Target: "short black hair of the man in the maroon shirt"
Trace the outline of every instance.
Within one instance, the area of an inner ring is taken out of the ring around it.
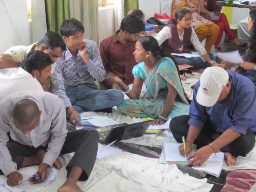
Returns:
[[[144,31],[145,24],[136,15],[129,14],[123,18],[120,29],[126,30],[129,34],[135,34]]]

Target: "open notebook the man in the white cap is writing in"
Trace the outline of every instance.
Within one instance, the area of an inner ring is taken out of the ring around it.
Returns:
[[[180,143],[164,143],[162,154],[159,158],[159,162],[163,164],[188,165],[189,161],[184,156],[182,156],[178,150],[178,147],[180,145],[181,145]],[[200,167],[195,166],[192,168],[196,170],[200,170],[202,172],[206,172],[213,176],[219,177],[222,170],[223,163],[224,163],[224,153],[218,152],[216,153],[216,156],[212,154],[210,158],[206,162],[204,162],[202,166]]]

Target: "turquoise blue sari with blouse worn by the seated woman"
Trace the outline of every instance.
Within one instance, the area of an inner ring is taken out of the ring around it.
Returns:
[[[144,62],[134,66],[134,76],[146,83],[146,94],[140,99],[126,99],[117,106],[122,113],[136,118],[158,118],[164,109],[168,94],[167,83],[177,91],[179,98],[172,104],[168,118],[188,114],[189,104],[184,96],[178,70],[171,58],[164,57],[146,74]]]

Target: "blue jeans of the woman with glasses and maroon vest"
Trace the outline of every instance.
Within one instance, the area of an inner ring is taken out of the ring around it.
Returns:
[[[192,58],[184,58],[184,57],[176,57],[175,58],[178,65],[188,64],[193,66],[193,69],[205,69],[209,67],[207,62],[204,62],[200,57],[192,57]]]

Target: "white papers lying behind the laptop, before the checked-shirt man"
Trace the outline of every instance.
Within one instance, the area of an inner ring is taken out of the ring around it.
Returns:
[[[108,125],[115,125],[118,122],[113,121],[108,117],[102,116],[93,116],[90,118],[81,118],[82,126],[76,126],[76,130],[82,128],[97,128],[97,127],[104,127]]]

